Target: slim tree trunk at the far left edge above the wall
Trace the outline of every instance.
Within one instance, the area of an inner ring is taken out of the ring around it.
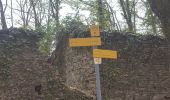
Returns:
[[[2,29],[7,29],[5,14],[4,14],[4,10],[3,10],[3,4],[2,4],[1,0],[0,0],[0,12],[1,12]]]

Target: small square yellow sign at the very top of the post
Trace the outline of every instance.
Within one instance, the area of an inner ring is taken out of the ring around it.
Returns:
[[[91,33],[91,36],[100,36],[99,25],[91,25],[90,33]]]

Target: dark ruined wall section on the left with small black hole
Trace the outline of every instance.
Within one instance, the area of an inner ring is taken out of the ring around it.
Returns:
[[[40,36],[24,29],[0,30],[0,100],[93,100],[63,83],[49,56],[38,49]]]

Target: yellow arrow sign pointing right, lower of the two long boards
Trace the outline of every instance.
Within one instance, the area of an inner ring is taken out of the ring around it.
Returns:
[[[117,59],[117,51],[93,49],[93,57]]]

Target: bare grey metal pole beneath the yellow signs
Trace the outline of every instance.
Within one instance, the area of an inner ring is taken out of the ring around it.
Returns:
[[[96,72],[96,94],[97,94],[97,100],[102,100],[101,86],[100,86],[99,64],[95,64],[95,72]]]

